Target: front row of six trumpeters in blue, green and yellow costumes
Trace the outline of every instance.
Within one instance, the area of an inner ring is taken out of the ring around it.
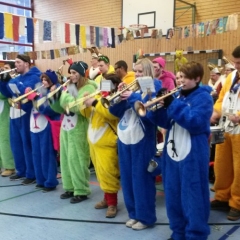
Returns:
[[[99,62],[103,59],[101,56]],[[106,217],[115,217],[121,182],[129,214],[126,226],[134,230],[151,227],[157,220],[155,173],[147,169],[156,152],[156,129],[160,126],[167,130],[159,166],[173,231],[171,239],[207,239],[210,233],[207,224],[210,212],[208,138],[213,102],[210,88],[199,87],[203,77],[201,64],[190,62],[183,65],[179,74],[182,88],[178,97],[166,97],[158,103],[161,107],[156,111],[147,111],[146,116],[139,116],[134,104],[136,101],[151,101],[148,94],[141,89],[127,89],[120,94],[120,101],[108,110],[101,104],[98,84],[85,77],[88,66],[82,61],[71,64],[67,88],[58,88],[52,71],[41,74],[35,67],[21,71],[26,63],[29,63],[28,58],[19,55],[16,67],[22,75],[0,85],[6,97],[30,93],[27,103],[13,107],[17,113],[10,110],[11,148],[17,170],[12,180],[25,177],[23,184],[30,184],[36,179],[36,187],[43,188],[45,192],[56,188],[56,159],[50,129],[51,121],[60,121],[62,116],[60,164],[65,192],[60,198],[71,198],[71,203],[88,198],[91,192],[88,169],[91,157],[104,193],[103,200],[95,208],[107,208]],[[155,91],[152,98],[161,92],[161,81],[154,78],[153,63],[149,59],[139,59],[134,71],[135,78],[153,78]],[[104,75],[104,78],[112,81],[117,91],[122,89],[121,79],[116,74]],[[45,91],[32,95],[31,90],[39,82]],[[39,99],[57,89],[59,91],[52,95],[50,101],[46,98],[38,106]],[[66,111],[70,103],[78,100],[82,100],[81,104]],[[28,135],[30,138],[26,139]],[[24,153],[16,156],[20,148]],[[22,158],[24,166],[20,164]]]

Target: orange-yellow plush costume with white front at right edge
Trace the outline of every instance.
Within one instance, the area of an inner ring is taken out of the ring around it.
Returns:
[[[225,84],[214,105],[220,115],[228,112],[235,99],[233,114],[240,115],[239,91],[230,93],[230,88],[237,71],[228,75]],[[237,84],[236,84],[237,85]],[[227,118],[227,117],[226,117]],[[228,120],[225,121],[227,123]],[[229,206],[240,210],[240,125],[230,122],[225,124],[225,141],[216,145],[214,172],[216,176],[214,189],[215,199],[229,202]]]

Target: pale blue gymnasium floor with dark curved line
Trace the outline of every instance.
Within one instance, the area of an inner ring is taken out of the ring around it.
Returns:
[[[103,197],[95,174],[91,175],[92,194],[77,204],[59,198],[63,192],[61,179],[57,190],[49,193],[36,190],[35,185],[20,183],[0,177],[1,240],[166,240],[170,237],[162,185],[157,185],[155,227],[134,231],[125,227],[128,216],[121,191],[116,218],[105,218],[106,209],[94,209],[94,204]],[[240,239],[240,220],[228,221],[224,212],[211,211],[209,225],[210,240]]]

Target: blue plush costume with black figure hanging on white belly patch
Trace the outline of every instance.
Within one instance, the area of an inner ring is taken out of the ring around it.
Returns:
[[[173,100],[168,108],[148,112],[167,129],[162,176],[172,239],[207,239],[209,217],[209,144],[211,89],[195,87]]]

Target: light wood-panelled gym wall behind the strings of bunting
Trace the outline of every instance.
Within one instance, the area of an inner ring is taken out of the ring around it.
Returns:
[[[211,20],[213,18],[222,17],[233,12],[237,12],[240,9],[240,1],[229,0],[235,6],[235,11],[232,11],[226,5],[223,5],[222,0],[209,1],[209,0],[198,0],[197,3],[197,22],[202,20]],[[65,2],[65,3],[63,3]],[[102,2],[102,3],[101,3]],[[193,2],[193,1],[189,1]],[[204,4],[203,4],[204,3]],[[177,2],[177,6],[181,4]],[[215,4],[215,10],[213,14],[212,6]],[[208,6],[208,8],[206,7]],[[221,6],[222,8],[220,8]],[[202,8],[201,8],[202,7]],[[101,10],[100,10],[101,9]],[[240,12],[240,11],[239,11]],[[203,17],[201,17],[201,14]],[[35,17],[46,20],[55,20],[60,22],[72,22],[72,23],[85,23],[87,25],[94,26],[121,26],[121,0],[96,0],[79,1],[72,0],[66,3],[66,1],[58,0],[35,0]],[[184,16],[185,18],[185,16]],[[184,26],[185,24],[191,24],[188,19],[185,22],[180,22],[180,18],[177,20],[179,24]],[[184,24],[183,24],[184,23]],[[179,25],[180,26],[180,25]],[[203,38],[187,38],[179,39],[177,34],[171,40],[165,38],[160,39],[138,39],[132,41],[125,41],[118,45],[115,49],[113,48],[102,48],[100,51],[103,54],[109,56],[111,63],[114,64],[118,60],[125,60],[129,69],[132,68],[133,54],[138,49],[143,49],[145,53],[155,52],[173,52],[175,49],[186,50],[187,47],[191,46],[193,50],[206,50],[206,49],[223,49],[224,55],[227,58],[231,57],[231,51],[233,47],[237,46],[240,42],[240,28],[237,31],[226,32],[223,34],[212,35]],[[60,43],[45,43],[35,44],[35,50],[49,50],[58,49],[67,45],[61,45]],[[77,55],[70,56],[73,60],[83,60],[90,63],[91,55],[89,52],[80,53]],[[186,56],[189,60],[195,60],[201,62],[205,67],[204,83],[209,78],[209,71],[206,67],[208,59],[217,58],[216,54],[201,54],[201,55],[189,55]],[[62,65],[62,60],[65,58],[59,58],[55,60],[37,60],[36,65],[42,70],[53,69],[57,70]],[[67,63],[66,63],[67,65]],[[167,63],[167,69],[173,71],[173,63]],[[63,67],[64,74],[67,74],[68,66]]]

